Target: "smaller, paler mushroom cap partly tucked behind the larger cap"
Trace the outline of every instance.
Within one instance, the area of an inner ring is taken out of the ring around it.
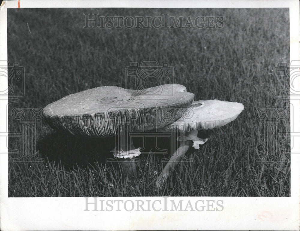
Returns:
[[[235,102],[220,100],[194,101],[180,119],[163,127],[162,130],[179,129],[184,132],[191,132],[193,130],[221,127],[235,120],[243,109],[244,105]]]

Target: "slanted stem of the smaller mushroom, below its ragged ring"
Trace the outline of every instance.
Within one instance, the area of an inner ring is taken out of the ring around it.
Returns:
[[[160,189],[164,182],[167,180],[167,177],[170,174],[170,171],[174,169],[174,166],[178,164],[179,160],[184,156],[184,154],[187,152],[187,150],[193,145],[193,141],[187,140],[185,142],[182,142],[180,147],[173,153],[170,160],[164,167],[163,171],[159,175],[158,179],[156,180],[156,187]]]

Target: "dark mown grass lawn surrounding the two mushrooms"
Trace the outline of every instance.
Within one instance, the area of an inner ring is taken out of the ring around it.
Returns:
[[[221,29],[83,29],[84,12],[103,16],[223,16]],[[20,131],[11,117],[17,106],[44,108],[70,93],[115,85],[125,87],[129,62],[157,59],[174,67],[174,82],[195,100],[240,102],[233,122],[208,131],[210,140],[189,150],[161,191],[155,179],[162,156],[153,141],[139,157],[138,179],[122,182],[119,168],[106,164],[114,138],[88,139],[59,134],[44,120],[36,123],[37,155],[45,163],[13,163],[9,155],[9,196],[290,196],[290,138],[278,137],[268,151],[259,107],[284,107],[274,96],[274,67],[289,63],[289,10],[270,9],[8,9],[8,61],[25,68],[25,96],[9,104],[9,131]],[[277,79],[277,81],[282,80]],[[155,81],[153,82],[155,84]],[[281,85],[280,85],[281,86]],[[134,87],[134,86],[132,86]],[[279,89],[285,93],[283,87]],[[270,115],[271,116],[271,115]],[[289,132],[290,120],[278,120]],[[205,136],[204,135],[204,136]],[[138,146],[139,139],[134,139]],[[9,139],[9,148],[20,141]],[[163,148],[166,142],[158,144]]]

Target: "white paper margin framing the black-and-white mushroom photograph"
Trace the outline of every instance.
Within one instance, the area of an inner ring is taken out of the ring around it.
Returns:
[[[290,60],[300,60],[298,1],[20,1],[21,8],[86,8],[87,6],[89,8],[289,8]],[[7,60],[7,8],[18,8],[18,1],[6,2],[0,9],[0,60]],[[1,84],[7,86],[7,81],[3,82],[0,79],[0,86],[3,86]],[[291,97],[291,104],[294,109],[291,109],[291,113],[295,118],[291,125],[291,132],[296,134],[293,139],[291,138],[291,197],[201,197],[202,200],[223,200],[222,212],[88,212],[83,211],[85,198],[80,197],[8,198],[8,155],[1,154],[1,230],[299,230],[300,137],[297,136],[300,132],[299,99],[294,100]],[[6,105],[7,100],[0,100],[0,126],[7,131],[7,114],[3,113],[6,111]],[[8,152],[6,142],[6,137],[0,137],[0,152],[3,152],[3,148]],[[172,197],[175,201],[187,198],[197,200],[197,197]],[[102,199],[109,199],[109,197]],[[271,212],[272,215],[265,220],[259,219],[259,215],[264,212]]]

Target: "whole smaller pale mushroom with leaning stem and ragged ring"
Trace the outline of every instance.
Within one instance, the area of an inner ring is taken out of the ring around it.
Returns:
[[[183,116],[176,122],[167,125],[160,131],[179,131],[185,132],[183,137],[178,137],[182,141],[181,146],[173,153],[169,162],[156,180],[156,186],[161,186],[166,181],[170,170],[184,156],[187,150],[192,146],[199,149],[199,145],[204,144],[208,138],[198,138],[199,130],[208,130],[215,127],[221,127],[233,120],[243,111],[244,105],[235,102],[226,102],[219,100],[199,100],[194,101],[189,108],[188,117]]]

